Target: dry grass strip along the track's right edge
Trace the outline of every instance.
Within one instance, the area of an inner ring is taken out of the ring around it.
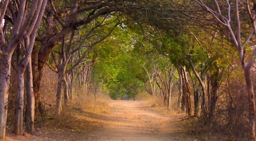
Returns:
[[[222,130],[222,132],[220,132],[210,129],[208,126],[205,126],[198,117],[187,116],[186,113],[182,112],[181,108],[177,106],[177,95],[174,95],[170,109],[166,107],[166,104],[164,104],[163,98],[160,95],[156,95],[154,97],[145,96],[145,94],[140,95],[140,97],[144,97],[144,99],[141,100],[147,101],[145,106],[150,110],[180,119],[179,122],[173,123],[173,126],[175,126],[174,128],[181,128],[183,130],[184,137],[198,139],[198,141],[236,141],[234,136],[227,136],[227,130],[224,131],[219,128],[219,130]],[[243,141],[243,139],[239,140]]]

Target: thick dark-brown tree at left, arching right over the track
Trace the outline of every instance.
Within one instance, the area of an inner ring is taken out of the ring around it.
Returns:
[[[39,106],[40,81],[43,68],[54,46],[79,26],[90,24],[102,15],[115,13],[119,9],[117,6],[121,4],[122,2],[115,3],[114,1],[106,2],[104,0],[86,2],[75,0],[63,3],[49,1],[49,7],[46,10],[47,17],[45,18],[46,26],[45,29],[41,29],[41,31],[44,31],[42,36],[38,37],[41,42],[40,49],[38,52],[34,52],[37,55],[33,55],[36,58],[32,59],[32,61],[35,61],[32,62],[34,64],[32,67],[35,105],[37,108]],[[62,9],[62,7],[67,8]],[[55,30],[55,25],[61,25],[61,30]],[[42,27],[44,28],[44,26]]]

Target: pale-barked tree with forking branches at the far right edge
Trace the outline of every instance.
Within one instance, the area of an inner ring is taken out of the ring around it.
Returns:
[[[209,13],[211,13],[211,15],[213,15],[213,17],[220,24],[227,28],[229,37],[231,38],[232,43],[238,51],[240,62],[244,71],[248,93],[249,140],[255,141],[255,100],[251,78],[251,68],[254,63],[256,49],[254,48],[255,44],[251,41],[254,40],[252,35],[256,35],[256,23],[254,16],[254,12],[256,11],[256,1],[252,0],[252,2],[249,2],[249,0],[247,0],[238,2],[238,0],[236,0],[235,2],[225,1],[221,3],[215,0],[214,4],[211,4],[211,7],[209,6],[209,3],[202,0],[196,0],[196,2],[198,2]],[[245,13],[243,13],[244,10],[240,9],[245,9],[245,11],[247,11],[247,17],[241,17],[241,15],[244,15]],[[243,18],[244,21],[250,21],[251,23],[249,24],[249,22],[242,22],[240,18]],[[247,26],[247,28],[244,29],[243,26]],[[246,56],[246,47],[253,50],[253,53],[249,56],[249,58]]]

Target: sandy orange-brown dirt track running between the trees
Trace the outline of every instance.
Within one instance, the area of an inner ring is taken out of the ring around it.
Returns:
[[[89,140],[187,140],[182,137],[181,130],[175,126],[175,122],[179,121],[177,117],[150,111],[144,103],[145,101],[108,101],[112,112],[105,117],[106,123],[103,127],[89,134],[92,137]]]

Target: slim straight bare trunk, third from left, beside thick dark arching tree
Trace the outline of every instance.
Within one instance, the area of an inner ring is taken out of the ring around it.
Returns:
[[[34,134],[34,119],[35,119],[35,97],[33,92],[33,76],[32,76],[32,66],[31,57],[27,64],[27,106],[26,106],[26,132],[29,134]]]

